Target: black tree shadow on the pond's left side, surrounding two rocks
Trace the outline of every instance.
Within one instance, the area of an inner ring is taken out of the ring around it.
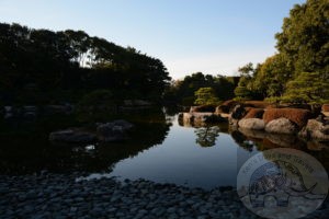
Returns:
[[[23,174],[48,170],[53,172],[101,172],[122,159],[134,157],[160,145],[171,124],[159,108],[122,115],[104,116],[97,122],[124,118],[135,124],[129,139],[115,143],[63,145],[48,141],[49,132],[69,127],[88,127],[92,116],[52,116],[35,120],[0,122],[0,174]]]

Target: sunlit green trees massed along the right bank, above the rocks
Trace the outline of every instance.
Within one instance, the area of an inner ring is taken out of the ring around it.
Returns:
[[[265,99],[272,103],[328,101],[329,4],[307,0],[296,4],[275,35],[277,54],[253,68],[239,68],[238,99]]]

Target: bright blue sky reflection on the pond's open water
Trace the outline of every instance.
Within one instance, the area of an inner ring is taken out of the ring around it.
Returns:
[[[183,127],[177,117],[172,120],[161,145],[117,162],[110,175],[205,188],[235,185],[237,155],[243,149],[231,136],[218,126]]]

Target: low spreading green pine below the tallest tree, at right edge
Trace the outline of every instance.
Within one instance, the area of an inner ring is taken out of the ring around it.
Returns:
[[[319,72],[302,72],[286,84],[283,100],[296,103],[321,103],[329,100],[329,80]]]

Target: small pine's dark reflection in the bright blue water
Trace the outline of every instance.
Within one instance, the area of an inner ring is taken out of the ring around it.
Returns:
[[[196,135],[195,142],[201,147],[213,147],[216,143],[216,138],[219,136],[218,126],[201,127],[194,130]]]

